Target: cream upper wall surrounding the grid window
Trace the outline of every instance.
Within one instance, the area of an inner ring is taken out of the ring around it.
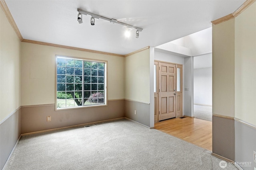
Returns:
[[[124,99],[124,57],[22,43],[22,106],[55,103],[55,55],[108,61],[108,100]]]

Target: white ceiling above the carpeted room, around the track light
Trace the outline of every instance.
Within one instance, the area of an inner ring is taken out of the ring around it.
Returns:
[[[211,27],[211,21],[237,10],[245,0],[6,0],[24,39],[125,55]],[[132,29],[83,16],[77,9],[143,28]]]

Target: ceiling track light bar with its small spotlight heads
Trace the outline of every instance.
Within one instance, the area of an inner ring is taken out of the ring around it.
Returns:
[[[115,19],[110,19],[110,18],[106,18],[106,17],[103,17],[103,16],[99,16],[99,15],[96,15],[96,14],[93,14],[93,13],[90,13],[90,12],[87,12],[87,11],[83,11],[83,10],[79,10],[79,9],[77,9],[77,11],[79,12],[78,13],[78,18],[77,18],[77,20],[78,20],[78,22],[79,23],[83,23],[83,21],[82,21],[82,14],[84,14],[84,15],[90,15],[90,16],[92,16],[91,17],[91,25],[95,25],[95,18],[96,19],[99,19],[99,18],[101,18],[101,19],[103,19],[103,20],[107,20],[107,21],[110,21],[110,23],[119,23],[119,24],[121,24],[121,25],[125,25],[127,28],[129,28],[129,29],[132,29],[132,28],[135,28],[135,29],[137,29],[136,30],[136,38],[138,38],[139,37],[139,32],[141,32],[143,29],[142,28],[139,28],[139,27],[135,27],[135,26],[133,26],[133,25],[129,25],[129,24],[126,24],[126,23],[123,23],[123,22],[119,22],[119,21],[117,21],[117,20],[115,20]],[[81,17],[80,17],[81,16]]]

